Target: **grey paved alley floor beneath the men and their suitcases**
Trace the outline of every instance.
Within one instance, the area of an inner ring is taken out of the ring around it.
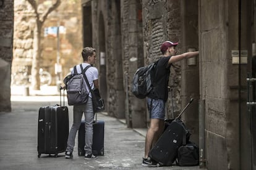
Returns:
[[[104,156],[98,156],[96,160],[84,160],[83,156],[78,156],[76,138],[72,160],[65,159],[64,153],[59,153],[58,158],[44,154],[38,158],[38,110],[42,106],[59,104],[58,91],[48,89],[36,96],[22,96],[19,92],[20,89],[16,89],[16,95],[11,97],[12,112],[0,113],[0,169],[148,169],[141,165],[145,129],[140,129],[140,133],[138,129],[129,129],[122,120],[106,113],[98,114],[98,119],[105,121]],[[72,112],[72,107],[69,107],[69,127],[72,124]],[[199,168],[171,166],[158,169]]]

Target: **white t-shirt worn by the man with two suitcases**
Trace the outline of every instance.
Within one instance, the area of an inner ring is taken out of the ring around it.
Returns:
[[[88,65],[90,65],[89,63],[82,63],[82,67],[83,69],[85,67],[87,67]],[[76,65],[77,68],[77,73],[82,73],[82,70],[80,68],[80,64]],[[71,71],[71,73],[74,73],[74,70]],[[94,83],[93,81],[95,79],[98,79],[98,69],[96,67],[90,67],[87,69],[87,71],[85,72],[85,75],[87,76],[88,82],[91,86],[92,89],[94,89]],[[87,87],[87,86],[86,86]],[[87,91],[90,92],[90,89],[87,87]],[[89,97],[92,97],[92,94],[89,93]]]

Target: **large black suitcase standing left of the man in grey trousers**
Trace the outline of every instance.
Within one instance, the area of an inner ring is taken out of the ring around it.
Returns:
[[[64,102],[64,100],[63,100]],[[69,110],[59,105],[41,107],[38,115],[38,158],[65,152],[69,136]]]

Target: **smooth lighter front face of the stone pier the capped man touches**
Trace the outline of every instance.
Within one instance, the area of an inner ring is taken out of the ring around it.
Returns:
[[[200,95],[202,99],[205,99],[205,132],[207,136],[205,149],[208,168],[229,169],[228,160],[230,158],[228,158],[226,144],[228,96],[224,92],[228,88],[226,68],[229,63],[227,58],[228,34],[225,31],[226,25],[224,25],[227,9],[219,4],[220,1],[211,1],[211,3],[201,1],[200,3],[201,6],[204,6],[200,14],[202,17],[200,20],[200,31],[202,32],[200,36],[200,56],[202,56],[200,71],[203,73],[200,75],[200,79],[204,80]],[[236,28],[234,30],[237,30]],[[216,43],[218,41],[222,43]],[[236,144],[237,142],[233,143],[233,145]],[[215,163],[211,160],[215,160]]]

